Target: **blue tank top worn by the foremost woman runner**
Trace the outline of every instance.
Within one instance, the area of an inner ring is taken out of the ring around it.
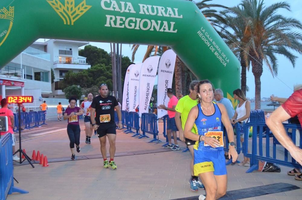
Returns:
[[[197,130],[196,134],[204,135],[208,131],[223,131],[221,128],[221,111],[215,102],[213,102],[213,104],[214,104],[215,111],[214,114],[210,116],[204,115],[201,110],[200,104],[197,105],[198,116],[194,124],[195,130]],[[220,140],[223,140],[223,138],[221,138]],[[204,146],[204,141],[200,141],[199,144],[197,141],[196,144],[194,145],[194,149],[202,150],[202,151],[221,151],[223,150],[223,147],[213,148],[211,146]]]

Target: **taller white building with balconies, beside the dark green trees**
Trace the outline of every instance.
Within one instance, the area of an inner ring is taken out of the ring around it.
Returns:
[[[50,53],[50,61],[53,63],[52,68],[55,75],[55,82],[52,84],[52,93],[49,97],[65,98],[62,92],[62,80],[65,74],[72,70],[79,72],[83,69],[90,68],[90,64],[86,63],[86,58],[79,56],[79,47],[82,47],[89,42],[72,41],[72,40],[48,40],[47,53]]]

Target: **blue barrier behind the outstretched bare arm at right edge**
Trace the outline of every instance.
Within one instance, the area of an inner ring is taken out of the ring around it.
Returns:
[[[283,124],[287,134],[294,143],[296,143],[296,130],[299,130],[302,133],[302,127],[299,124]],[[252,134],[252,153],[248,152],[248,135],[249,135],[249,127],[253,127]],[[276,145],[280,144],[278,140],[273,138],[273,157],[270,156],[270,137],[268,134],[265,137],[262,134],[259,134],[259,138],[257,137],[257,129],[259,130],[265,129],[268,133],[270,130],[265,122],[250,122],[244,125],[244,148],[243,153],[244,156],[250,158],[251,167],[246,171],[246,173],[250,173],[259,168],[259,160],[263,160],[270,163],[276,163],[283,166],[294,167],[294,168],[302,168],[299,163],[297,163],[293,158],[291,161],[288,161],[288,151],[284,149],[284,156],[282,159],[276,158]],[[292,133],[289,132],[288,129],[292,129]],[[265,156],[263,155],[263,139],[265,139]],[[299,146],[302,148],[302,134],[300,134]]]

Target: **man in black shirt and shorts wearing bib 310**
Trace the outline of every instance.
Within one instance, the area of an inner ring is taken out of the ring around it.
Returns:
[[[115,154],[115,139],[116,139],[116,124],[114,122],[114,108],[117,111],[118,116],[118,129],[123,127],[122,125],[122,113],[118,106],[117,100],[114,96],[108,95],[108,86],[106,83],[100,85],[99,92],[101,95],[95,97],[92,100],[90,118],[92,121],[92,127],[97,131],[101,144],[101,153],[104,159],[104,168],[116,169],[117,166],[114,162]],[[96,115],[95,115],[96,113]],[[95,122],[94,122],[95,121]],[[108,136],[110,148],[110,161],[107,160],[106,151],[106,137]]]

